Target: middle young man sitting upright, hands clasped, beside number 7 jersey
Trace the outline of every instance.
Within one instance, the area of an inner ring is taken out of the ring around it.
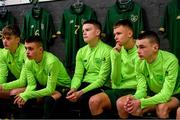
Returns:
[[[86,46],[76,55],[75,74],[67,99],[80,103],[80,117],[90,118],[89,98],[102,92],[103,86],[110,85],[110,51],[111,47],[100,39],[101,24],[96,20],[83,23],[83,38]]]

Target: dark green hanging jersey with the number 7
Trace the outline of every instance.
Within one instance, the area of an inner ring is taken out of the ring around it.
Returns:
[[[59,32],[65,40],[65,66],[74,69],[76,53],[85,45],[82,36],[82,24],[86,20],[97,19],[95,11],[87,5],[83,5],[81,12],[70,6],[62,15]]]

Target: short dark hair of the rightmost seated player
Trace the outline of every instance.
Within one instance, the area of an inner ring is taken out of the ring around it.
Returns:
[[[140,33],[137,39],[138,40],[142,40],[142,39],[146,39],[146,38],[148,40],[150,40],[151,43],[156,43],[160,47],[160,39],[159,39],[159,37],[158,37],[156,32],[145,31],[143,33]]]

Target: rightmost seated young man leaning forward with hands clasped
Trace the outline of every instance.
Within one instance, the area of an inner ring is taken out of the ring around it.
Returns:
[[[176,95],[178,60],[172,53],[159,49],[157,34],[146,31],[137,39],[138,61],[136,78],[137,91],[121,99],[121,117],[128,113],[143,116],[148,110],[155,110],[159,118],[169,118],[169,112],[179,105]]]

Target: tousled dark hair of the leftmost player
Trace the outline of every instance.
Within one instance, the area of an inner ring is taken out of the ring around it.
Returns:
[[[16,25],[7,25],[2,29],[2,35],[15,35],[17,37],[20,37],[20,29]]]

